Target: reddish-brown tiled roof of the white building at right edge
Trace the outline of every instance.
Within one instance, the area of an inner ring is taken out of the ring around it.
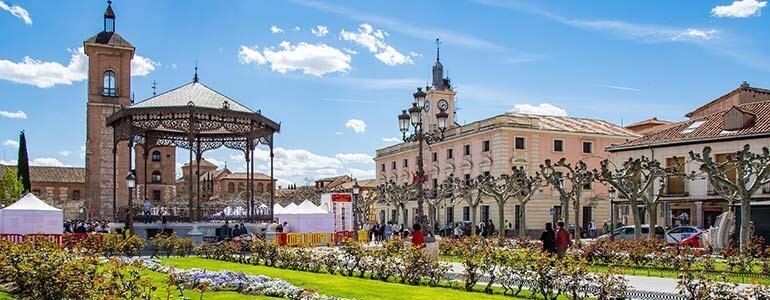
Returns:
[[[607,151],[622,151],[638,148],[700,143],[721,139],[750,138],[756,136],[770,136],[770,101],[753,102],[738,105],[737,108],[745,113],[756,116],[754,123],[746,128],[725,131],[724,115],[729,109],[715,112],[701,118],[663,125],[659,131],[645,135],[623,144],[611,146]],[[690,125],[703,122],[694,130],[687,132]]]

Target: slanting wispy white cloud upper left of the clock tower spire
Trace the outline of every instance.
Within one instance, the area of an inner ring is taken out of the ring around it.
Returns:
[[[340,39],[356,43],[371,53],[386,65],[395,66],[401,64],[412,64],[412,58],[393,48],[385,42],[388,33],[382,29],[374,29],[372,25],[361,24],[358,26],[358,32],[345,31],[340,32]]]

